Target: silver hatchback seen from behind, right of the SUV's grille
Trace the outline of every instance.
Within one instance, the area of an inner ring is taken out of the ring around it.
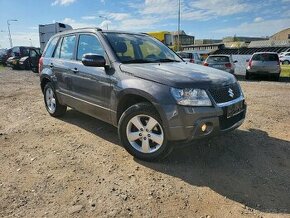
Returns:
[[[281,73],[280,61],[276,52],[257,52],[248,61],[246,79],[251,75],[269,75],[279,80]]]

